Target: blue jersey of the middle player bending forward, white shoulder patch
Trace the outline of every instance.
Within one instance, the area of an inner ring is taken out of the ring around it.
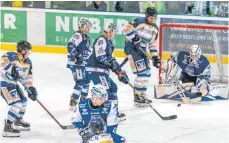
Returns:
[[[88,59],[87,66],[108,70],[113,52],[112,40],[103,35],[98,37],[93,44],[93,53]]]

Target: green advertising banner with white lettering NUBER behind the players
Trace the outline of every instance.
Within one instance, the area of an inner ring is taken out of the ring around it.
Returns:
[[[104,15],[104,14],[77,14],[77,13],[54,13],[46,12],[46,45],[66,46],[74,31],[78,30],[79,21],[88,18],[93,23],[93,28],[88,34],[93,44],[94,40],[103,34],[104,24],[113,22],[118,27],[114,44],[116,48],[124,47],[125,36],[122,32],[128,22],[134,20],[136,16]]]

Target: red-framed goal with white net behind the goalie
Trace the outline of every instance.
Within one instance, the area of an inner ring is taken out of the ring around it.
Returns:
[[[200,45],[212,67],[211,82],[228,83],[228,26],[209,24],[164,23],[159,29],[159,55],[166,67],[173,52]],[[159,80],[162,82],[161,70]]]

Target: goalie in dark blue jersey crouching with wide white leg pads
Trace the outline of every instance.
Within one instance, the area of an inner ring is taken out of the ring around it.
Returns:
[[[188,99],[210,101],[228,99],[228,85],[210,84],[211,65],[208,59],[201,54],[198,45],[192,45],[189,51],[180,51],[173,54],[168,60],[167,73],[164,74],[164,84],[155,86],[155,98],[181,100],[181,93],[177,91],[178,85],[173,85],[173,76],[184,87],[184,95]],[[170,76],[171,75],[171,76]],[[201,93],[201,96],[188,93]],[[184,100],[183,100],[184,101]]]

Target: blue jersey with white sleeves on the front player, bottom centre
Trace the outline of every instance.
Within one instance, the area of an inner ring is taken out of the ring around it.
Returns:
[[[122,143],[124,138],[116,134],[118,126],[117,108],[110,101],[104,103],[103,106],[94,109],[90,105],[91,99],[82,100],[79,102],[75,116],[72,118],[72,124],[78,130],[88,127],[92,116],[100,116],[107,126],[107,133],[109,133],[115,143]]]

